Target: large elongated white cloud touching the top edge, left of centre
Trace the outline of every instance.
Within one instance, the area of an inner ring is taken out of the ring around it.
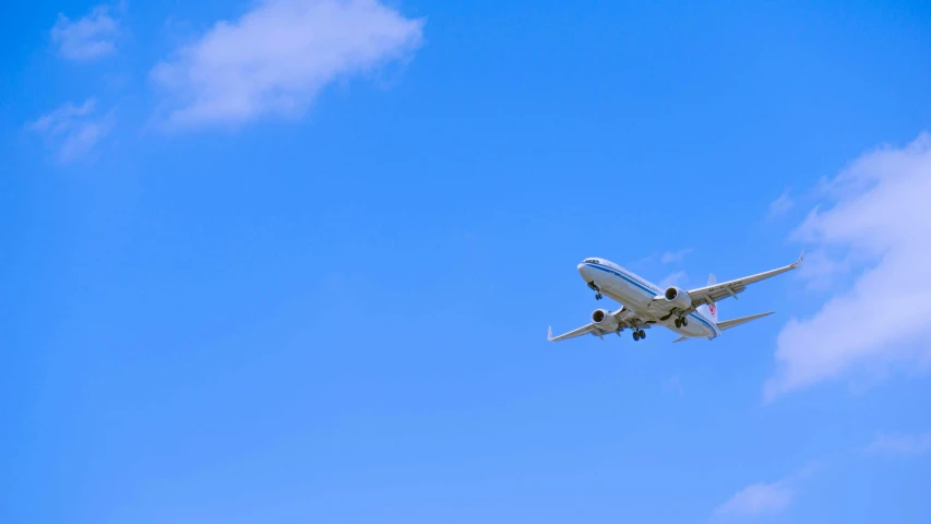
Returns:
[[[422,19],[378,0],[264,0],[152,70],[174,127],[298,117],[330,82],[405,59]]]

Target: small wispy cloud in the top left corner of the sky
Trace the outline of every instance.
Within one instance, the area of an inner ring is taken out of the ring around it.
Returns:
[[[51,28],[51,41],[68,60],[93,60],[116,52],[118,25],[107,5],[97,5],[76,21],[59,14]]]

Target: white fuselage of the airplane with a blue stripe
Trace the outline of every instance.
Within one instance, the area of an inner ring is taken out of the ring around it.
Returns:
[[[660,320],[667,315],[668,311],[658,308],[650,310],[649,306],[655,298],[663,296],[664,290],[613,262],[605,259],[585,259],[578,264],[578,273],[589,287],[596,286],[601,294],[622,303],[640,319],[653,320],[656,324],[683,336],[708,340],[720,336],[717,323],[700,311],[689,313],[688,325],[681,327],[676,327],[672,317]]]

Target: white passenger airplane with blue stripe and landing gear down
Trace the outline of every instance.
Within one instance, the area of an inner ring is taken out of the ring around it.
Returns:
[[[720,284],[715,275],[709,275],[705,287],[684,290],[669,286],[664,290],[609,260],[585,259],[578,264],[578,274],[595,291],[595,298],[600,300],[602,295],[607,295],[620,302],[621,309],[613,312],[596,309],[592,313],[592,323],[559,336],[552,336],[550,326],[547,340],[560,342],[582,335],[594,335],[604,341],[606,334],[617,333],[620,336],[621,332],[629,329],[633,332],[633,340],[640,341],[646,338],[644,330],[661,325],[681,335],[672,342],[690,338],[711,341],[719,337],[723,331],[774,313],[768,311],[718,322],[719,300],[728,297],[736,300],[737,295],[743,293],[747,286],[795,270],[802,264],[802,260],[804,250],[799,254],[798,261],[772,271]]]

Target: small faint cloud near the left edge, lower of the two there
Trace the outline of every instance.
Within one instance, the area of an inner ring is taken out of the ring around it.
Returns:
[[[73,162],[89,153],[110,131],[111,118],[96,115],[95,107],[93,98],[80,106],[69,102],[27,128],[55,146],[61,162]]]

